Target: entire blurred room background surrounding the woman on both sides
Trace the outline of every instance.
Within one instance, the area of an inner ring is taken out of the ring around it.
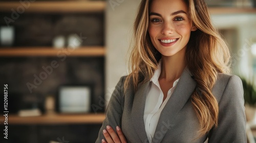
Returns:
[[[0,1],[0,142],[95,142],[116,83],[128,74],[139,3]],[[256,2],[206,3],[243,80],[248,142],[255,142]]]

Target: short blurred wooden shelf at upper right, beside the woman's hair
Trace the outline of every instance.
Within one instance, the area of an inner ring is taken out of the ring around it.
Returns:
[[[256,14],[255,8],[212,8],[209,7],[210,14]]]

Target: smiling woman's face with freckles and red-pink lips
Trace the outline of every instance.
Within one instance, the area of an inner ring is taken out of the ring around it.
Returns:
[[[163,56],[184,54],[190,32],[195,30],[183,0],[153,0],[148,33]]]

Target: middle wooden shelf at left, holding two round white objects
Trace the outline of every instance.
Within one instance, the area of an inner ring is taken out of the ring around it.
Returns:
[[[54,49],[53,47],[4,47],[0,49],[0,56],[104,56],[105,48],[103,46],[86,46],[77,49]]]

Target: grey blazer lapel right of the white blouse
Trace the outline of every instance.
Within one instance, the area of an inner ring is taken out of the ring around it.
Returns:
[[[153,137],[153,142],[161,142],[167,130],[172,129],[176,122],[176,116],[186,104],[196,87],[190,71],[186,67],[179,79],[174,93],[163,108]],[[143,124],[144,125],[144,124]]]

